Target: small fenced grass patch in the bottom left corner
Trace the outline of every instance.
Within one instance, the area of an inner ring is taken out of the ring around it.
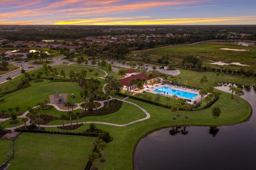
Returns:
[[[12,156],[12,140],[0,139],[0,164]]]

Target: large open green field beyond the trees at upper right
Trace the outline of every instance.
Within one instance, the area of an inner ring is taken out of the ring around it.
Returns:
[[[228,51],[222,50],[221,48],[246,49],[249,51]],[[162,57],[162,55],[167,54],[174,58],[181,58],[185,55],[194,55],[202,59],[222,61],[225,63],[240,62],[246,65],[256,65],[256,48],[244,47],[235,43],[214,44],[212,42],[207,42],[195,45],[180,45],[160,49],[150,49],[135,53],[141,54],[143,52],[150,53],[152,59],[158,59]]]

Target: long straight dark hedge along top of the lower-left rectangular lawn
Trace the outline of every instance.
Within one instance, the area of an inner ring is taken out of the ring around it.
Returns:
[[[94,133],[78,133],[78,132],[59,132],[59,131],[47,131],[47,130],[28,130],[28,129],[15,129],[15,132],[30,132],[30,133],[48,133],[48,134],[68,134],[68,135],[77,135],[77,136],[99,136],[99,134]]]

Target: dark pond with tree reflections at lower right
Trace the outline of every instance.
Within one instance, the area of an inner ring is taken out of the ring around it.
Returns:
[[[228,85],[217,87],[230,92]],[[164,128],[142,138],[134,153],[135,170],[255,169],[256,91],[243,89],[253,108],[250,120],[226,127]]]

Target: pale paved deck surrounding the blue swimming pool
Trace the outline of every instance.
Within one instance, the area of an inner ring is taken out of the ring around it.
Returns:
[[[193,102],[193,101],[201,101],[201,96],[199,95],[199,92],[198,92],[198,91],[193,91],[192,89],[188,89],[188,88],[185,89],[185,87],[183,87],[183,88],[178,88],[178,87],[174,87],[173,85],[172,85],[172,86],[170,86],[170,85],[168,85],[168,84],[162,85],[162,84],[160,84],[160,83],[158,83],[158,84],[156,84],[156,85],[154,85],[154,86],[149,85],[148,87],[149,87],[149,88],[144,88],[144,90],[145,90],[146,92],[150,92],[150,93],[154,93],[154,94],[157,94],[157,93],[158,93],[158,92],[155,91],[156,89],[160,89],[160,88],[162,88],[162,87],[169,87],[169,88],[174,89],[174,90],[184,91],[184,92],[187,92],[187,93],[193,93],[193,94],[196,94],[196,95],[198,95],[198,96],[196,96],[196,97],[194,97],[193,99],[190,99],[190,100],[191,100],[192,102]],[[163,96],[172,97],[171,94],[168,94],[168,95],[167,95],[167,94],[164,94],[163,92],[160,93],[160,94],[163,95]],[[181,96],[178,96],[178,97],[179,97],[179,98],[182,98],[182,99],[189,99],[189,98],[181,97]]]

